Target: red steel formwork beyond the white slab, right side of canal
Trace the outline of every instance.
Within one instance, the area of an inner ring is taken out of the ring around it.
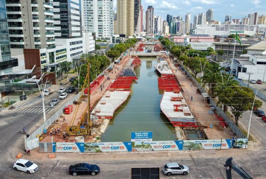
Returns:
[[[174,89],[180,90],[180,86],[175,80],[174,75],[167,75],[158,78],[158,88],[165,91],[174,91]]]

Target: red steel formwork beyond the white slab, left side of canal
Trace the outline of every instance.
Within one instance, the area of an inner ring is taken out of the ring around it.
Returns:
[[[133,80],[138,80],[138,78],[136,76],[118,76],[108,88],[130,89]]]

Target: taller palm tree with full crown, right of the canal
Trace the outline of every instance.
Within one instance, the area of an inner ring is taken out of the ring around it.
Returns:
[[[203,74],[202,82],[203,84],[207,84],[209,86],[209,95],[211,98],[216,97],[217,94],[214,93],[214,88],[218,83],[222,82],[222,74],[221,70],[224,70],[219,63],[212,62],[209,64],[209,67]]]

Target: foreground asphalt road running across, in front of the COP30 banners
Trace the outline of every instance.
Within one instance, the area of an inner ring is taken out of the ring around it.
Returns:
[[[45,155],[45,154],[44,154]],[[142,157],[142,153],[117,154],[117,158],[112,154],[80,155],[80,154],[57,154],[55,159],[38,160],[34,157],[26,157],[34,160],[39,166],[39,170],[34,174],[27,174],[21,171],[15,171],[9,166],[2,178],[97,178],[97,179],[127,179],[131,178],[131,168],[134,167],[160,167],[161,179],[190,178],[190,179],[226,179],[225,160],[233,157],[238,164],[244,168],[253,178],[265,178],[265,160],[266,155],[263,151],[253,151],[251,149],[232,149],[217,151],[214,155],[213,150],[193,151],[192,156],[188,151],[171,152],[167,157],[165,152],[151,152]],[[97,164],[100,167],[100,173],[96,176],[80,175],[73,177],[68,173],[68,167],[76,163]],[[190,174],[172,175],[167,177],[163,174],[164,164],[178,162],[187,165]],[[0,177],[1,178],[1,177]],[[232,170],[232,178],[242,179]]]

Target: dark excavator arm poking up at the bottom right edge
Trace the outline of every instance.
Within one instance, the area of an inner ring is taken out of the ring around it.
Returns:
[[[233,164],[232,160],[236,164]],[[231,170],[232,169],[234,171],[236,171],[236,173],[238,173],[244,179],[253,179],[232,157],[228,158],[225,161],[225,165],[223,165],[223,166],[225,167],[225,172],[226,172],[226,178],[227,179],[232,179],[232,174],[231,174]]]

